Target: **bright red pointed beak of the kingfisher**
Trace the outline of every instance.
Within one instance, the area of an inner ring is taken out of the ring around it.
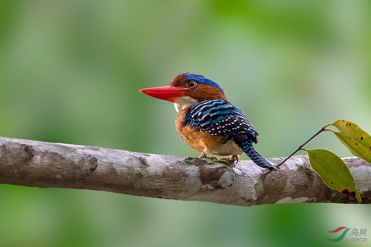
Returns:
[[[187,89],[184,87],[165,86],[165,87],[152,87],[150,89],[142,89],[139,90],[139,92],[145,93],[156,99],[167,100],[174,103],[176,97],[185,96],[186,90],[191,89]]]

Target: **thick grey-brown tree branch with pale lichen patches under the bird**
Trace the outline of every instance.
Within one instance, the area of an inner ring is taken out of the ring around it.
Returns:
[[[278,164],[284,158],[272,158]],[[371,164],[344,158],[362,203],[371,203]],[[252,161],[216,163],[0,137],[0,183],[40,188],[76,188],[238,206],[271,203],[357,203],[331,190],[309,166],[308,156],[291,157],[265,177]]]

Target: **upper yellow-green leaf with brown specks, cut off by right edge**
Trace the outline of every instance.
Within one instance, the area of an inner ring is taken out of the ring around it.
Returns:
[[[351,151],[352,154],[371,164],[371,136],[355,123],[344,119],[329,124],[341,132],[334,132],[339,140]]]

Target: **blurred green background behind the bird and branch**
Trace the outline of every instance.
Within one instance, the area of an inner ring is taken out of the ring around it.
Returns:
[[[337,119],[371,133],[370,13],[342,0],[0,0],[0,136],[198,156],[173,104],[138,93],[183,72],[224,89],[266,158]],[[353,156],[327,131],[308,148]],[[0,246],[369,246],[370,212],[1,184]],[[339,226],[368,228],[368,244],[324,238]]]

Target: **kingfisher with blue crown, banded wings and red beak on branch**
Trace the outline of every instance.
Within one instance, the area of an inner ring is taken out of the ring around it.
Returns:
[[[181,73],[171,80],[169,86],[141,89],[139,92],[174,103],[178,112],[175,120],[178,134],[201,153],[200,158],[218,161],[212,155],[229,156],[220,161],[238,163],[238,158],[245,153],[258,166],[279,170],[255,150],[253,144],[258,143],[259,134],[214,81],[199,74]]]

